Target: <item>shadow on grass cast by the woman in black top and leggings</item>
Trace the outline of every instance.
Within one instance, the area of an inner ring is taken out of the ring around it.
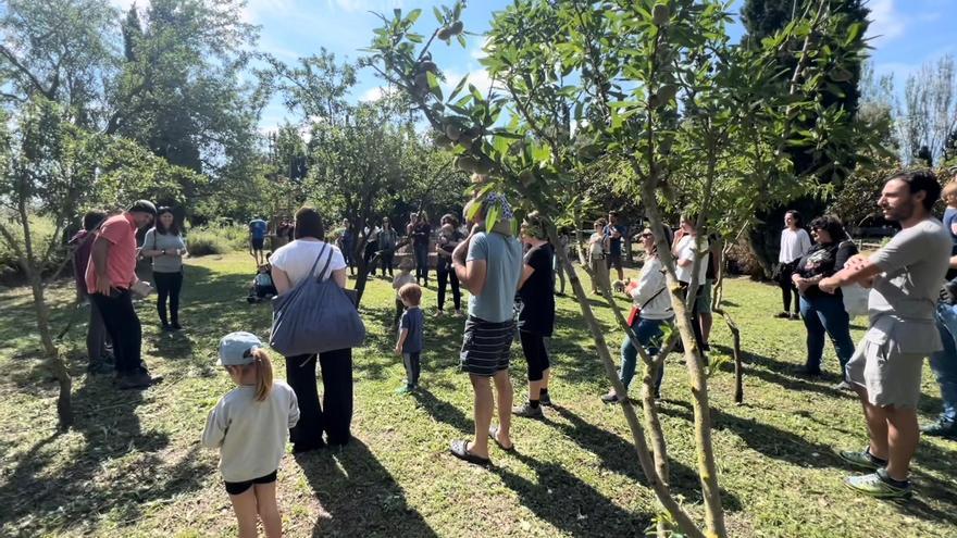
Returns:
[[[647,485],[647,479],[642,472],[635,448],[630,442],[611,431],[601,429],[589,424],[581,416],[566,408],[552,408],[555,413],[569,421],[570,424],[554,423],[568,438],[575,441],[583,449],[594,452],[601,459],[601,464],[617,473],[622,473],[633,480]],[[641,413],[641,409],[636,409]],[[683,496],[689,502],[700,502],[701,491],[698,487],[697,472],[687,465],[669,459],[668,462],[671,490],[673,493]],[[741,501],[726,490],[721,491],[721,501],[724,509],[730,512],[741,511]]]

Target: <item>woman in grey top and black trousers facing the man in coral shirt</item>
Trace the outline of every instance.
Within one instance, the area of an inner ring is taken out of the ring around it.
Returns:
[[[157,285],[157,312],[163,330],[179,330],[179,290],[183,289],[183,258],[186,255],[186,241],[179,234],[176,217],[170,208],[160,208],[156,226],[146,233],[142,240],[144,257],[153,262],[153,283]],[[166,317],[166,299],[170,300],[170,316]]]

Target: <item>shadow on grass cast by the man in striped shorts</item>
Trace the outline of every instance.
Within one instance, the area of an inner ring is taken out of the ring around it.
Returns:
[[[623,510],[557,463],[520,452],[512,456],[531,467],[538,479],[529,480],[505,467],[493,472],[536,517],[571,536],[643,536],[651,525],[651,514]]]

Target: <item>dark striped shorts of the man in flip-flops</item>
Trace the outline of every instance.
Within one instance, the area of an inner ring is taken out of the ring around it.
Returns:
[[[512,320],[492,323],[470,315],[465,321],[462,351],[459,354],[462,372],[492,377],[508,370],[514,336],[515,322]]]

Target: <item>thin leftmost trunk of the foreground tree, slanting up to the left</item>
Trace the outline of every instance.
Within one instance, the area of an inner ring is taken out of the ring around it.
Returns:
[[[548,226],[548,238],[552,242],[552,245],[560,245],[558,242],[558,235],[555,232],[554,226]],[[592,333],[592,338],[595,340],[595,347],[598,351],[598,358],[601,361],[601,365],[605,368],[605,375],[608,377],[609,381],[611,381],[612,387],[614,388],[616,393],[618,395],[626,395],[626,390],[624,386],[622,386],[621,380],[618,378],[618,372],[614,370],[614,363],[611,360],[611,353],[608,351],[608,345],[605,340],[605,334],[600,325],[598,325],[598,321],[595,318],[594,312],[592,312],[592,305],[588,301],[588,296],[585,293],[585,289],[582,287],[582,281],[579,279],[577,273],[572,267],[569,262],[568,255],[562,249],[557,249],[559,261],[564,266],[566,272],[568,273],[569,284],[574,290],[575,299],[579,301],[579,306],[582,310],[582,316],[585,318],[585,324],[588,327],[588,330]],[[694,538],[705,538],[705,534],[701,533],[700,529],[695,525],[694,521],[687,514],[687,512],[682,509],[682,506],[675,501],[675,499],[671,496],[671,491],[669,490],[666,483],[663,483],[659,477],[656,471],[656,465],[652,460],[651,453],[648,450],[648,443],[645,439],[645,431],[642,427],[641,422],[638,421],[637,415],[635,414],[635,410],[631,404],[631,401],[627,398],[621,399],[621,409],[624,413],[625,422],[629,425],[629,429],[632,433],[632,441],[635,446],[635,452],[638,456],[638,462],[642,466],[642,472],[645,474],[649,486],[655,491],[655,496],[658,498],[658,501],[661,502],[664,510],[674,518],[678,527],[687,535],[688,537]]]

